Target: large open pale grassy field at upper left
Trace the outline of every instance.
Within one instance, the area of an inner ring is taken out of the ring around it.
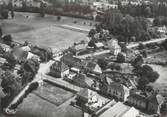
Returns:
[[[74,20],[78,23],[74,24]],[[83,22],[87,22],[87,24],[84,25]],[[68,17],[62,17],[61,21],[57,21],[57,17],[50,15],[40,18],[38,14],[16,13],[14,20],[1,20],[0,24],[3,32],[12,34],[13,39],[16,41],[24,42],[28,40],[36,45],[60,49],[86,39],[87,34],[57,27],[57,24],[91,29],[90,22],[92,21]]]

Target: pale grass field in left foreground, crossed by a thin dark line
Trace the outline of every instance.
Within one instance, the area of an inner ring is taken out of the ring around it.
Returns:
[[[69,105],[73,95],[45,84],[24,100],[14,117],[81,117],[81,111]]]

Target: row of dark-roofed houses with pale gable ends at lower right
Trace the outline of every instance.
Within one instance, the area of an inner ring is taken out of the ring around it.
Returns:
[[[128,88],[121,83],[112,82],[106,87],[101,87],[101,91],[119,101],[126,102],[140,110],[151,114],[160,113],[164,97],[157,93],[146,93]]]

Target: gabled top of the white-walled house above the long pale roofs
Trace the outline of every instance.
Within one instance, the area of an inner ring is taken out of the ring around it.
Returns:
[[[84,88],[82,90],[80,90],[77,93],[78,96],[83,97],[85,99],[90,99],[92,98],[94,95],[96,95],[95,92],[93,92],[92,90],[88,89],[88,88]]]

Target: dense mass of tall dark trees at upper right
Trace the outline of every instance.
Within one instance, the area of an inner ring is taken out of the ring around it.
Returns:
[[[111,9],[104,15],[97,28],[108,29],[119,41],[147,41],[151,39],[148,21],[144,17],[123,15],[119,10]],[[97,29],[99,30],[99,29]]]

